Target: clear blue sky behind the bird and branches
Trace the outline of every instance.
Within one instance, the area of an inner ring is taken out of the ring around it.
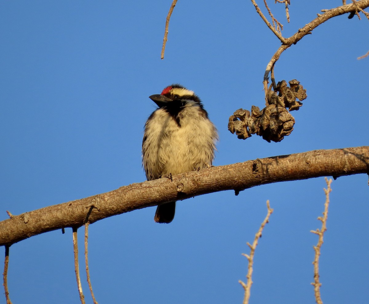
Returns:
[[[261,1],[259,1],[261,2]],[[269,1],[290,36],[331,8]],[[301,2],[301,1],[300,1]],[[339,5],[340,1],[336,1]],[[286,50],[276,80],[298,79],[308,98],[280,143],[227,130],[238,108],[263,107],[266,64],[280,45],[251,1],[178,1],[160,59],[171,1],[1,1],[0,220],[145,180],[143,126],[149,95],[180,83],[203,100],[220,141],[214,165],[315,149],[368,145],[368,20],[339,16]],[[99,303],[242,303],[248,253],[270,200],[274,213],[256,249],[251,303],[314,303],[313,245],[324,178],[220,192],[177,204],[169,225],[155,207],[90,226]],[[367,303],[368,176],[332,183],[321,255],[324,303]],[[79,231],[83,261],[83,229]],[[13,303],[79,303],[72,231],[10,248]],[[92,303],[81,265],[86,303]],[[3,300],[4,301],[4,298]],[[3,303],[3,302],[1,302]]]

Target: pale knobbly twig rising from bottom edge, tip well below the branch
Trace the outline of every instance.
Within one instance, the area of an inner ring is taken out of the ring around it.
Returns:
[[[265,225],[267,223],[269,223],[270,214],[273,213],[273,209],[271,209],[270,205],[269,205],[269,200],[266,201],[266,206],[268,207],[268,213],[266,214],[266,217],[265,217],[264,221],[261,223],[259,231],[255,234],[254,242],[252,243],[252,245],[250,245],[249,242],[246,243],[248,245],[248,247],[250,248],[250,255],[242,254],[243,256],[246,256],[246,258],[249,261],[247,275],[246,275],[247,283],[245,284],[241,280],[238,281],[238,283],[240,283],[242,285],[242,287],[244,287],[244,291],[245,291],[244,301],[242,302],[243,304],[248,304],[249,303],[250,289],[251,289],[251,285],[252,285],[252,278],[251,278],[252,271],[253,271],[252,265],[254,264],[255,249],[256,249],[256,246],[258,245],[259,238],[261,238],[261,234],[263,232],[263,229],[264,229]]]

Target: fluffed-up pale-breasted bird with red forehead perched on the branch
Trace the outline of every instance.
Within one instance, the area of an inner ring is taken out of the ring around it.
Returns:
[[[148,181],[211,167],[217,129],[200,98],[180,84],[149,98],[158,106],[149,116],[142,140],[142,165]],[[158,205],[156,223],[170,223],[176,202]]]

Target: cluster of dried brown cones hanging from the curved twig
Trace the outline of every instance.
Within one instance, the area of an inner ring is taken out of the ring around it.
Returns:
[[[262,136],[268,141],[281,141],[284,136],[291,134],[295,119],[289,111],[298,110],[302,106],[306,90],[296,79],[280,81],[272,90],[268,90],[268,105],[262,110],[258,106],[251,106],[251,112],[238,109],[230,116],[228,130],[236,133],[239,139],[251,137],[251,134]],[[299,99],[297,101],[296,99]],[[287,111],[287,108],[289,111]]]

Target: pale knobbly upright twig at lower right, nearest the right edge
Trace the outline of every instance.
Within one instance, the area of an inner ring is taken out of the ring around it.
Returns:
[[[311,283],[311,285],[314,286],[314,294],[315,294],[315,301],[318,304],[323,304],[323,301],[321,300],[320,296],[320,286],[321,283],[319,282],[319,256],[320,256],[320,248],[323,245],[323,236],[325,231],[327,231],[327,219],[328,219],[328,206],[329,206],[329,193],[332,191],[331,189],[331,183],[332,179],[325,178],[325,182],[327,183],[327,189],[324,189],[325,193],[325,204],[324,204],[324,212],[323,217],[318,217],[318,220],[322,222],[322,227],[317,230],[311,230],[311,233],[315,233],[319,236],[318,244],[314,246],[315,251],[315,258],[314,258],[314,283]]]

